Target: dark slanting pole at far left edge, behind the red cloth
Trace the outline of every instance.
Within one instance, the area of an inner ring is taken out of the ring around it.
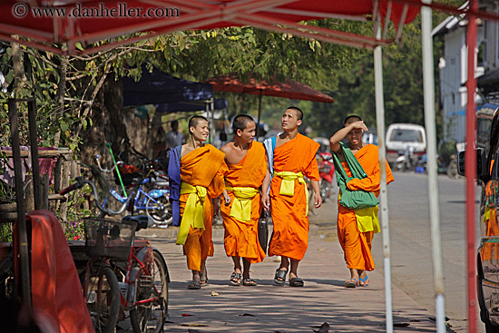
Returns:
[[[21,149],[19,142],[19,127],[17,124],[18,100],[9,99],[9,122],[12,140],[12,155],[14,158],[15,171],[15,201],[17,203],[17,244],[19,250],[21,292],[24,306],[31,308],[31,288],[29,275],[28,238],[26,233],[24,187],[21,170]]]

